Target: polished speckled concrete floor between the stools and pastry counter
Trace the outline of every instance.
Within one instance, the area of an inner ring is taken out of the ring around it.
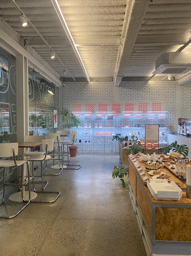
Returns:
[[[0,256],[146,256],[128,190],[112,178],[119,156],[72,160],[82,167],[46,177],[46,190],[61,192],[55,203],[33,202],[16,218],[0,219]]]

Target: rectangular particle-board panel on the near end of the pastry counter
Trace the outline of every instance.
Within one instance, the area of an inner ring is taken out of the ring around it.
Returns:
[[[191,208],[155,208],[155,239],[191,241]]]

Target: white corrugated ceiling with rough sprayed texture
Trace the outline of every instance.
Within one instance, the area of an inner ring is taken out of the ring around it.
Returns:
[[[60,77],[85,77],[51,0],[15,0],[63,64],[10,0],[0,0],[0,22],[6,22]],[[189,40],[191,0],[58,0],[89,78],[151,76],[155,59]],[[189,49],[191,50],[191,49]]]

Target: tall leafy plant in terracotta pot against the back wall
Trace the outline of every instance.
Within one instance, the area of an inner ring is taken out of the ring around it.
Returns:
[[[68,109],[63,109],[63,111],[60,113],[63,128],[69,129],[70,133],[72,135],[72,132],[76,131],[76,128],[81,125],[81,121],[79,118],[74,115],[72,112],[70,112]],[[71,137],[71,140],[73,142],[73,145],[69,146],[70,150],[70,156],[76,157],[78,145],[75,145],[76,139]]]

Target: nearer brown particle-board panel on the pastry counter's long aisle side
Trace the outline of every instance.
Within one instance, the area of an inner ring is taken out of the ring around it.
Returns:
[[[152,232],[152,205],[151,200],[147,197],[146,191],[142,188],[141,181],[137,179],[136,198],[138,200],[144,219],[147,223],[150,235]]]

